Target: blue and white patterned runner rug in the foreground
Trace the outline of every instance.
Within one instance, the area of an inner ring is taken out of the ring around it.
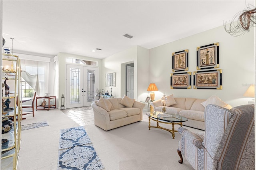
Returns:
[[[60,130],[58,170],[104,169],[84,127]]]

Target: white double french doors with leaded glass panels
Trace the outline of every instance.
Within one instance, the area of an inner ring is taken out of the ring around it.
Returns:
[[[99,88],[98,68],[67,64],[66,107],[90,106]]]

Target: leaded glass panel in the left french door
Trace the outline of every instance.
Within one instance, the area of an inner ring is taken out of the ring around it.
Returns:
[[[70,68],[70,104],[80,103],[80,69]]]

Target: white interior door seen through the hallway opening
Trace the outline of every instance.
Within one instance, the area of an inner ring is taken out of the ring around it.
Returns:
[[[134,67],[126,66],[126,96],[134,98]]]

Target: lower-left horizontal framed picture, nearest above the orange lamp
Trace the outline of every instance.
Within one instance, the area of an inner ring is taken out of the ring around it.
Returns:
[[[191,72],[172,73],[171,89],[191,89]]]

